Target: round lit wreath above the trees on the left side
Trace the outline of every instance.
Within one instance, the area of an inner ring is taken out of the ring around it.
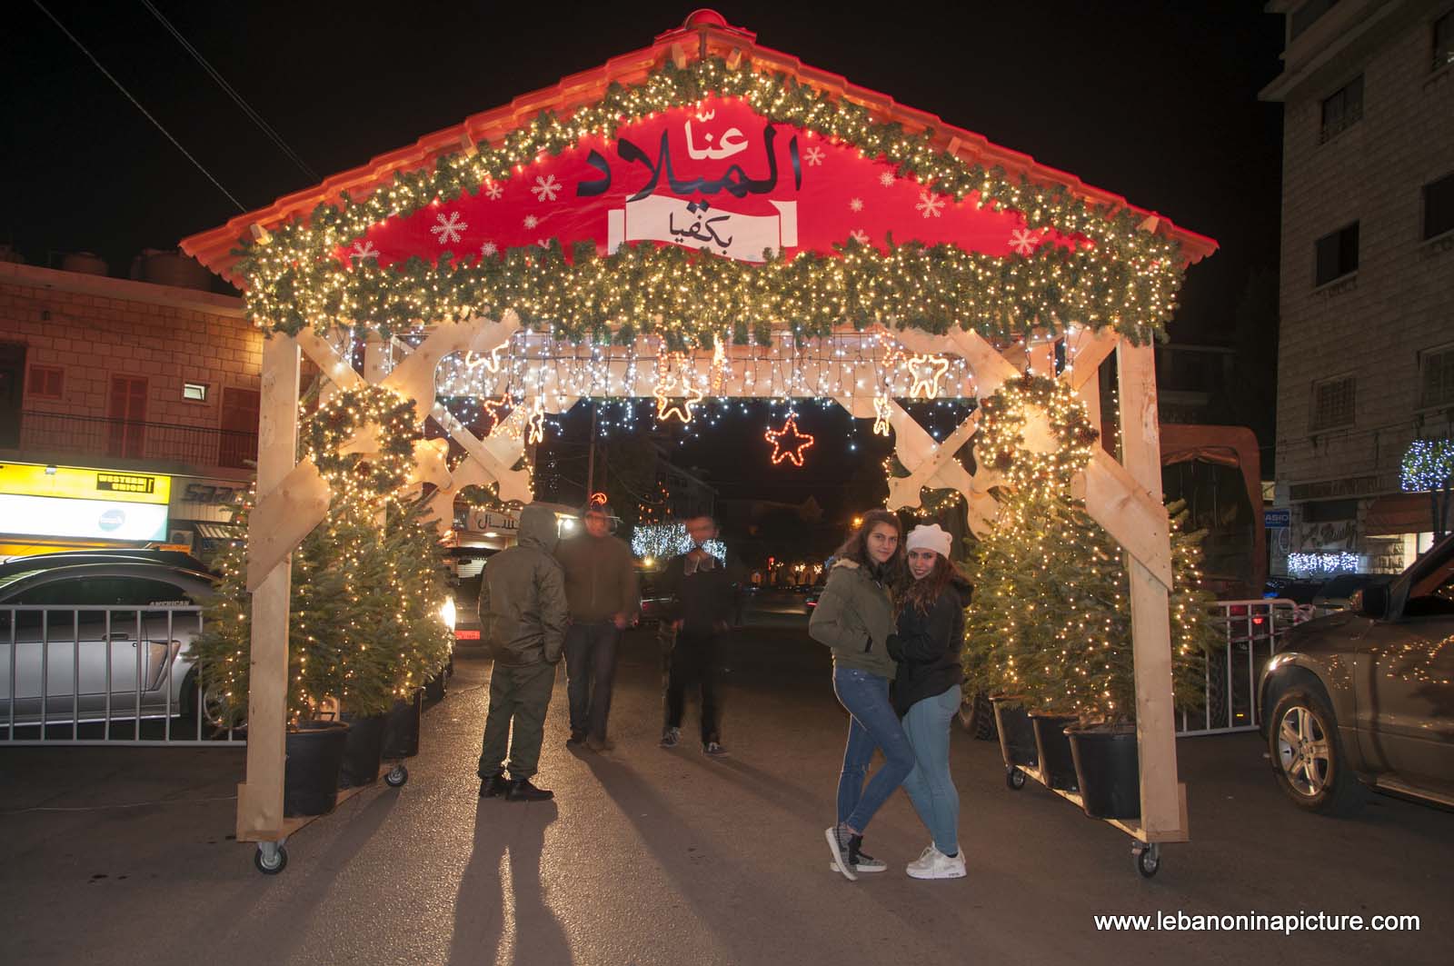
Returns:
[[[378,451],[339,452],[369,423],[378,426]],[[414,466],[414,404],[382,386],[346,388],[318,407],[304,425],[307,457],[334,492],[387,496],[404,484]]]

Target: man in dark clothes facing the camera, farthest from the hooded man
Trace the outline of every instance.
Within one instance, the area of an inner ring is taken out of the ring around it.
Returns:
[[[727,633],[737,592],[737,567],[728,567],[705,547],[717,538],[717,522],[707,514],[686,519],[692,548],[662,569],[662,591],[672,598],[672,627],[676,642],[666,659],[666,727],[662,748],[682,741],[686,688],[701,687],[702,751],[726,755],[717,730],[717,652]]]

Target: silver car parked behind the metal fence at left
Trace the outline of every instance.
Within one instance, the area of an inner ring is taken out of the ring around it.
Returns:
[[[0,563],[0,726],[195,713],[189,649],[212,582],[199,560],[154,550]]]

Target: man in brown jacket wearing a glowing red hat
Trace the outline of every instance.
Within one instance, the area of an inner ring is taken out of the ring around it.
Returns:
[[[566,631],[566,679],[570,695],[570,741],[592,751],[611,751],[606,719],[616,676],[621,631],[641,611],[635,557],[611,535],[611,506],[582,512],[585,532],[560,541],[555,559],[566,572],[570,630]]]

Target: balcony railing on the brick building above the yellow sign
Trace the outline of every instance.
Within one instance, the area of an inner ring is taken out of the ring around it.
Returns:
[[[246,468],[257,458],[257,434],[28,409],[20,450]]]

